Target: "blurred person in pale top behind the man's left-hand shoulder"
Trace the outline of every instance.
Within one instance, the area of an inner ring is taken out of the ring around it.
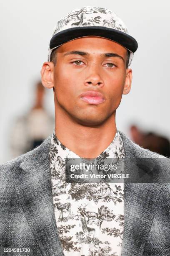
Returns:
[[[39,81],[35,84],[35,101],[32,108],[18,117],[10,134],[12,157],[24,154],[40,144],[49,136],[54,127],[54,118],[44,105],[45,87]]]

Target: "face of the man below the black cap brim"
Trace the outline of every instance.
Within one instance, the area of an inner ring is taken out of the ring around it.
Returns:
[[[82,125],[100,125],[120,104],[127,50],[111,40],[84,37],[57,49],[55,108]],[[98,94],[97,94],[98,93]]]

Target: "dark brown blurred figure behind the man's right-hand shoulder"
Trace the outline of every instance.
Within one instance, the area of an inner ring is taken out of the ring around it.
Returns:
[[[143,132],[136,125],[130,126],[132,140],[139,146],[160,155],[170,157],[170,141],[154,132]]]

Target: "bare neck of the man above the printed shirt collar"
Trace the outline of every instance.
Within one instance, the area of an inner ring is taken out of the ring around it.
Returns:
[[[96,158],[112,142],[116,134],[115,113],[101,125],[87,127],[66,113],[55,111],[55,134],[60,142],[82,158]]]

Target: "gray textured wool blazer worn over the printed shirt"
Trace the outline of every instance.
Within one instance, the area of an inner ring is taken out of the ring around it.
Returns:
[[[163,157],[119,132],[125,157]],[[0,255],[64,255],[52,200],[50,140],[51,136],[0,166]],[[125,184],[124,193],[122,256],[170,255],[170,184]],[[30,248],[30,252],[3,253],[3,248]]]

